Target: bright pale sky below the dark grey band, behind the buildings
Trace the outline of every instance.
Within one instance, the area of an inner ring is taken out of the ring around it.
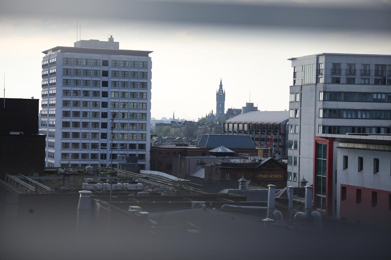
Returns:
[[[41,52],[54,46],[73,46],[76,18],[0,14],[0,73],[1,81],[5,73],[5,96],[40,99]],[[81,39],[105,41],[110,33],[119,41],[120,49],[153,51],[151,116],[157,119],[170,118],[173,111],[176,118],[189,120],[212,109],[215,112],[220,78],[226,91],[226,109],[244,106],[250,90],[251,102],[258,109],[288,109],[292,68],[287,58],[321,52],[391,54],[387,27],[371,32],[355,28],[78,20]]]

